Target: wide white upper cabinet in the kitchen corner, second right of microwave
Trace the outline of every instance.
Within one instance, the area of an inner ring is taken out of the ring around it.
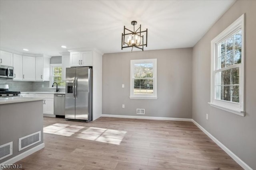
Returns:
[[[36,80],[36,58],[22,56],[22,80]]]

